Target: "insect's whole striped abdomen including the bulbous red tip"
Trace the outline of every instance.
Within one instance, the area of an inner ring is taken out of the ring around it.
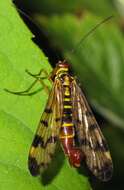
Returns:
[[[75,147],[75,130],[72,122],[71,82],[69,76],[64,77],[63,82],[63,118],[60,129],[60,140],[64,153],[68,156],[69,162],[74,167],[79,167],[81,162],[81,151]]]

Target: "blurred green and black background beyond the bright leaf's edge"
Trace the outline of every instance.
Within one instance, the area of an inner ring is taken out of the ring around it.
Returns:
[[[15,0],[14,3],[30,16],[29,19],[19,11],[35,35],[33,41],[52,66],[60,59],[69,61],[108,141],[114,164],[113,178],[103,183],[91,175],[92,189],[123,189],[124,1]],[[114,16],[111,20],[77,45],[89,30],[111,15]],[[71,53],[73,49],[75,52]]]

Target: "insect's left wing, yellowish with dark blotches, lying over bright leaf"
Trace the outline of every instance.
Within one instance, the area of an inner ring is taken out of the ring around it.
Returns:
[[[53,84],[29,152],[28,167],[33,176],[47,168],[55,151],[62,118],[61,90],[61,82],[57,79]]]

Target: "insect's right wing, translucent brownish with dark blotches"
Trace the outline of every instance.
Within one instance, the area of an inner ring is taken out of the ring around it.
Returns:
[[[113,164],[108,145],[76,81],[71,86],[73,118],[88,168],[102,181],[112,176]]]

